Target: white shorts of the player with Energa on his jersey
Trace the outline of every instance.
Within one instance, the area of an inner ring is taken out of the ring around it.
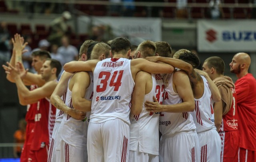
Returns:
[[[199,159],[199,140],[196,132],[161,136],[159,162],[199,162]]]

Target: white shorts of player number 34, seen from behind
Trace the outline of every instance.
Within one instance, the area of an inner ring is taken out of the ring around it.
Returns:
[[[116,118],[89,123],[87,134],[88,162],[128,162],[130,129]]]

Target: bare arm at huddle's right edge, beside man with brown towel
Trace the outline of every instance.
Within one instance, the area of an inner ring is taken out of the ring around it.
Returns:
[[[212,100],[214,102],[221,101],[220,91],[219,91],[218,87],[214,84],[212,79],[209,77],[209,75],[206,72],[202,71],[202,70],[195,69],[195,71],[199,75],[204,76],[205,79],[207,80],[207,82],[209,83],[209,88],[210,88],[210,91],[212,93]]]

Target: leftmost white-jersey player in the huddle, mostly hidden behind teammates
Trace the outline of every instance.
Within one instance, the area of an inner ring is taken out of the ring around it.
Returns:
[[[94,41],[86,40],[80,47],[79,52],[79,61],[86,61],[88,46]],[[60,150],[60,134],[58,129],[63,118],[64,112],[71,115],[72,118],[82,121],[85,118],[86,113],[78,111],[76,109],[70,109],[69,107],[60,107],[58,105],[65,105],[64,101],[66,100],[66,91],[68,87],[68,80],[72,74],[65,71],[62,72],[60,81],[56,86],[54,92],[51,96],[51,103],[55,105],[56,109],[56,119],[54,124],[54,129],[52,131],[52,139],[50,142],[49,153],[48,153],[48,162],[56,162],[56,148]],[[58,103],[58,104],[57,104]]]

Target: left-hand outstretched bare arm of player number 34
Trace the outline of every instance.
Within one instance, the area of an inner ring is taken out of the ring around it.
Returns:
[[[97,63],[100,60],[94,59],[89,61],[71,61],[63,66],[63,69],[69,73],[76,71],[94,71]]]

